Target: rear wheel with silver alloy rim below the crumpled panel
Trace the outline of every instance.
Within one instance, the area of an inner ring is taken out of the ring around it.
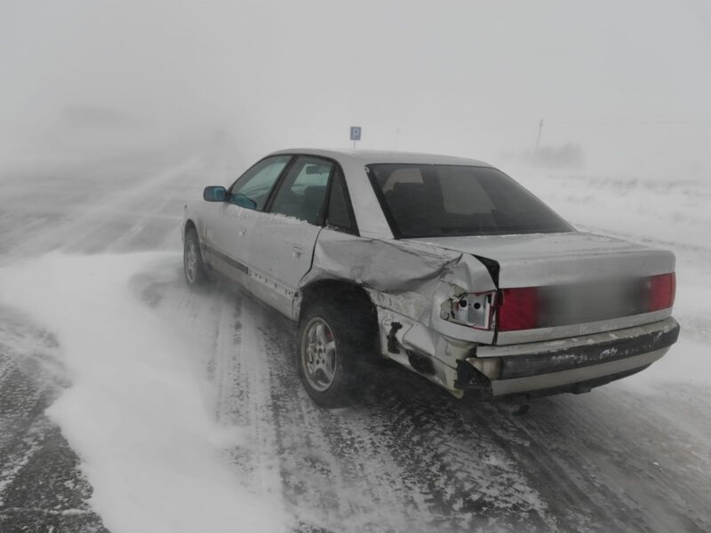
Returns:
[[[306,392],[326,409],[355,403],[362,386],[363,363],[371,354],[368,309],[340,301],[316,302],[301,313],[299,324],[299,375]],[[356,308],[354,308],[356,307]]]

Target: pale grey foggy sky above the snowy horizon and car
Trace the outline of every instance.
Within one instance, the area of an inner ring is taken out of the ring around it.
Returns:
[[[593,168],[711,168],[705,0],[3,0],[0,66],[5,158],[84,106],[136,139],[221,128],[249,157],[356,124],[362,147],[496,163],[543,117]]]

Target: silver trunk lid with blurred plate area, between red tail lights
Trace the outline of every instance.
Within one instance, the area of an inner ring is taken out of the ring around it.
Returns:
[[[490,270],[503,298],[508,289],[538,288],[536,326],[500,330],[497,344],[619,330],[671,314],[649,312],[645,300],[648,278],[674,272],[670,251],[583,232],[416,240],[495,262],[498,270]]]

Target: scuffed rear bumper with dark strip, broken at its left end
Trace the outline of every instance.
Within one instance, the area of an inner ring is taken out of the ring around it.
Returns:
[[[587,392],[594,386],[643,370],[667,353],[679,337],[674,318],[585,337],[513,346],[478,346],[466,362],[484,370],[491,395]],[[463,376],[458,388],[481,390],[481,380]]]

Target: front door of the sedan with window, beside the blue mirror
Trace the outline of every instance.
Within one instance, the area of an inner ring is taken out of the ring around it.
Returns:
[[[249,235],[291,160],[291,155],[274,155],[254,164],[229,187],[227,200],[215,204],[208,219],[204,239],[208,261],[245,286],[249,285]]]

